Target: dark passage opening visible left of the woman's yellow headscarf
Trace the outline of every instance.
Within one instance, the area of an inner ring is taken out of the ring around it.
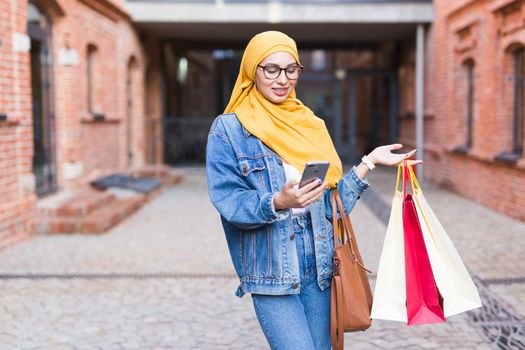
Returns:
[[[242,51],[213,43],[166,43],[163,55],[164,162],[202,164],[210,126],[228,104]]]

